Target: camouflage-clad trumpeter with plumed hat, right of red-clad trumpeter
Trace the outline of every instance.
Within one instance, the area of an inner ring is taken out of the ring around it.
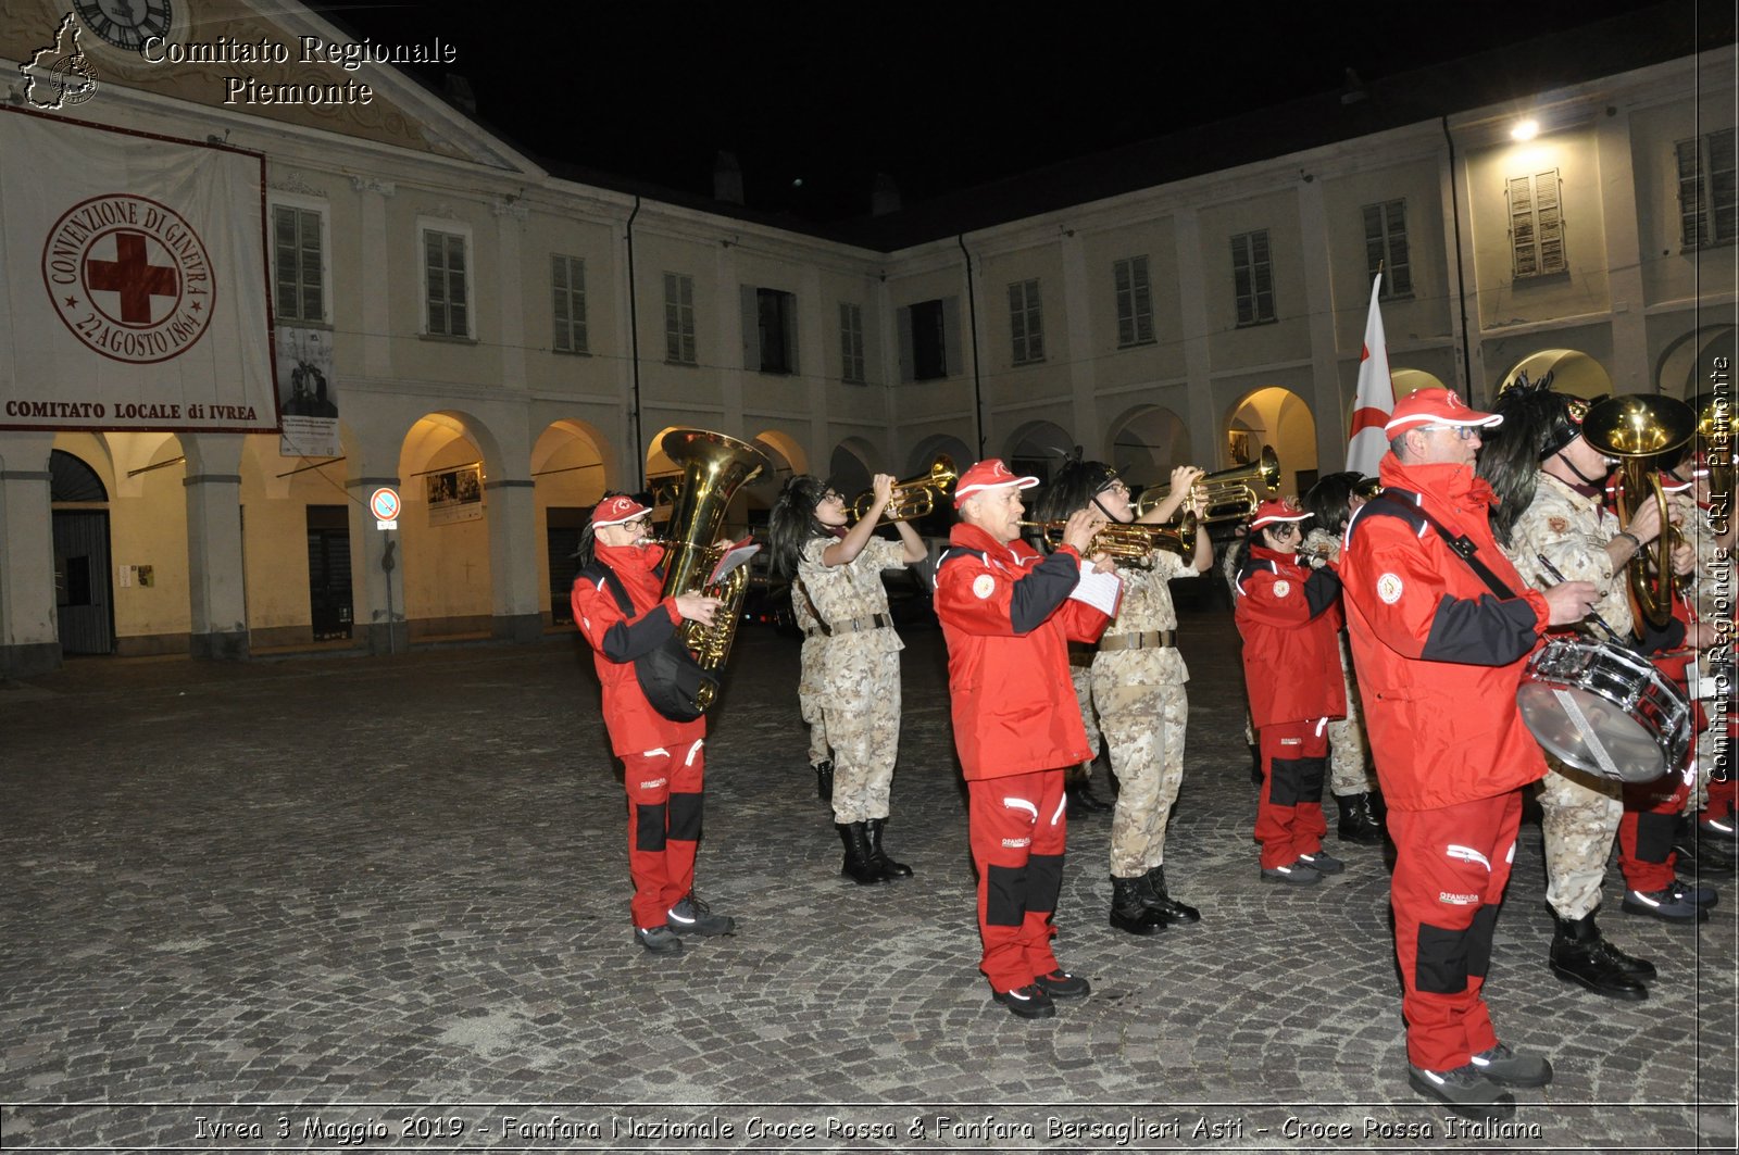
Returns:
[[[1136,518],[1129,485],[1103,461],[1069,461],[1038,503],[1042,522],[1063,522],[1087,511],[1111,524],[1158,525],[1189,503],[1202,470],[1172,470],[1167,497]],[[1099,638],[1092,659],[1092,708],[1111,751],[1116,809],[1111,816],[1109,924],[1129,934],[1153,934],[1179,922],[1200,922],[1202,911],[1174,899],[1165,884],[1165,826],[1184,778],[1184,724],[1189,670],[1177,652],[1177,609],[1170,583],[1195,578],[1214,560],[1207,531],[1195,527],[1191,555],[1149,546],[1139,564],[1123,567],[1123,598],[1116,619]]]

